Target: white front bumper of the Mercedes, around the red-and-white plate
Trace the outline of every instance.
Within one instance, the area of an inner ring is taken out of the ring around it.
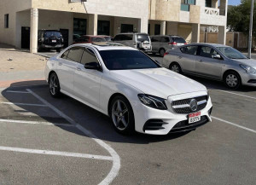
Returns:
[[[211,122],[210,117],[212,109],[212,101],[209,97],[207,106],[203,108],[201,112],[201,120],[194,124],[188,124],[188,114],[174,113],[172,108],[168,107],[168,110],[158,110],[143,105],[140,101],[132,103],[134,117],[135,117],[135,130],[144,134],[150,135],[167,135],[168,133],[180,132],[185,130],[195,130],[195,128],[202,124]],[[148,120],[162,121],[165,124],[161,124],[159,130],[146,130],[145,124]],[[182,123],[182,124],[180,124]],[[180,124],[180,125],[177,125]]]

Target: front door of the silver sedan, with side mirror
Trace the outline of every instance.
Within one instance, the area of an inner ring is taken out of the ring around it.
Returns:
[[[223,59],[214,59],[213,55],[219,55],[218,52],[208,46],[201,46],[199,55],[196,57],[195,73],[206,76],[207,78],[222,78]]]

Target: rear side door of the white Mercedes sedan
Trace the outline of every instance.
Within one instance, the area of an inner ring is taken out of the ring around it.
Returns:
[[[73,78],[78,62],[81,60],[84,49],[73,47],[64,52],[58,61],[58,78],[61,84],[61,90],[73,94]]]

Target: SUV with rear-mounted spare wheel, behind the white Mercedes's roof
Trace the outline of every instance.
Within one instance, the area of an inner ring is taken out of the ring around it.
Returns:
[[[147,33],[119,33],[113,38],[113,42],[122,43],[135,49],[151,52],[151,40]]]

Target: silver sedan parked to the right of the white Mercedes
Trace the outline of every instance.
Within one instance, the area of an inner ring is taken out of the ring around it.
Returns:
[[[256,61],[232,47],[193,43],[166,52],[162,66],[178,73],[224,81],[230,89],[256,87]]]

